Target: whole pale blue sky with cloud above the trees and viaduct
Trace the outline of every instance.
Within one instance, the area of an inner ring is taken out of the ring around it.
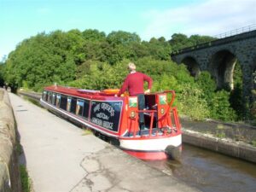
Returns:
[[[256,0],[0,0],[0,61],[40,32],[97,29],[143,40],[256,29]]]

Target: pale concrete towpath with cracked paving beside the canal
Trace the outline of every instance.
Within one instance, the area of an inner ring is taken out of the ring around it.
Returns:
[[[197,191],[9,94],[36,192]]]

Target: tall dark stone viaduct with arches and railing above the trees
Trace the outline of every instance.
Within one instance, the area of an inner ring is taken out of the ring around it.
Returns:
[[[191,75],[196,77],[201,71],[208,71],[218,89],[230,90],[234,88],[233,72],[236,61],[239,61],[244,98],[251,97],[251,90],[256,88],[256,30],[179,49],[172,52],[171,57],[178,64],[185,64]]]

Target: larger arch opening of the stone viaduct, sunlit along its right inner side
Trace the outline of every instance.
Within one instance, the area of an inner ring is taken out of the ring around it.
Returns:
[[[216,79],[218,89],[234,89],[233,73],[236,61],[236,55],[227,49],[219,50],[212,55],[210,72],[212,77]]]

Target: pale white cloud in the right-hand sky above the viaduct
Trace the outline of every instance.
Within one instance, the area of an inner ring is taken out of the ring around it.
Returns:
[[[141,37],[170,39],[175,32],[215,36],[253,24],[256,29],[255,3],[255,0],[207,0],[176,9],[148,10],[142,15],[149,23]]]

